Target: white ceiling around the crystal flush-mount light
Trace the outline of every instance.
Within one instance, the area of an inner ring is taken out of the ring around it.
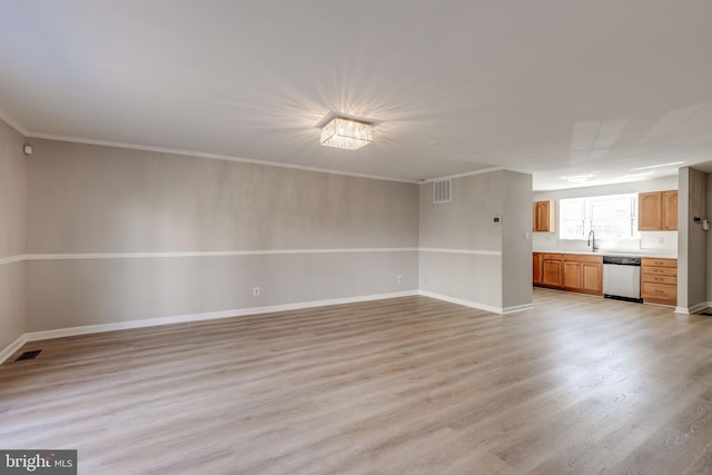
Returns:
[[[0,8],[0,110],[30,137],[403,180],[503,167],[538,190],[712,160],[710,0]],[[329,112],[374,142],[320,147]]]

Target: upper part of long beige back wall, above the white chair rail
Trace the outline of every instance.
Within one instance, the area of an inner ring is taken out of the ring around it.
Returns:
[[[418,187],[36,140],[28,253],[417,246]]]

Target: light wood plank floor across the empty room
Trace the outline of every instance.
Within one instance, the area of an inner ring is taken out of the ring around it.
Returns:
[[[0,448],[82,474],[710,474],[712,317],[535,289],[31,343]]]

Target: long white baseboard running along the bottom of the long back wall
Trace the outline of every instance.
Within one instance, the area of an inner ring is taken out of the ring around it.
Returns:
[[[275,311],[300,310],[304,308],[324,307],[328,305],[355,304],[359,301],[384,300],[387,298],[411,297],[418,295],[417,290],[406,290],[392,294],[365,295],[358,297],[333,298],[328,300],[301,301],[297,304],[273,305],[265,307],[249,307],[234,310],[208,311],[204,314],[174,315],[168,317],[148,318],[142,320],[120,321],[113,324],[86,325],[79,327],[58,328],[52,330],[31,331],[24,334],[27,342],[63,338],[68,336],[88,335],[103,331],[126,330],[134,328],[155,327],[159,325],[182,324],[189,321],[205,321],[218,318],[244,317],[247,315],[271,314]]]

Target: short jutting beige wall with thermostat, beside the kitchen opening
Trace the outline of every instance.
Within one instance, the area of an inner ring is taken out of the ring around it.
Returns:
[[[452,189],[436,205],[433,184],[421,187],[421,289],[494,311],[531,305],[532,177],[501,170]]]

